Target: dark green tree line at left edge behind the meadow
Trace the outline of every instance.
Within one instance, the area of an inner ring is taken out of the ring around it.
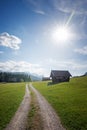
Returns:
[[[30,82],[31,77],[26,73],[0,72],[0,82]]]

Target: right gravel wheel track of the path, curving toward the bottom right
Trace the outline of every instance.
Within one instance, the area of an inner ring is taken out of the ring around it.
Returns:
[[[60,119],[57,116],[54,109],[51,105],[46,101],[46,99],[32,86],[29,84],[32,91],[35,93],[39,107],[40,113],[43,120],[44,130],[65,130],[61,125]]]

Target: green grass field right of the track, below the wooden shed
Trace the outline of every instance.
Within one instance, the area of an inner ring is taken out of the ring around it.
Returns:
[[[54,107],[67,130],[87,130],[87,76],[72,78],[69,83],[33,85]]]

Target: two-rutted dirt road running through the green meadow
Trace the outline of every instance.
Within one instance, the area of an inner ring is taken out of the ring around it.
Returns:
[[[35,110],[36,116],[35,121],[33,122],[34,127],[27,127],[27,123],[30,123],[28,122],[28,113],[32,102],[32,95],[30,95],[28,84],[26,84],[24,99],[15,113],[15,116],[4,130],[65,130],[61,125],[56,112],[46,99],[32,86],[32,84],[29,84],[29,87],[30,91],[35,94],[34,105],[39,108],[38,110]]]

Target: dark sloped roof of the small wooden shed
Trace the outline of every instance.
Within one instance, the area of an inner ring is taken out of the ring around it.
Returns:
[[[52,77],[52,76],[55,76],[55,77],[57,77],[57,76],[72,76],[70,73],[69,73],[69,71],[65,71],[65,70],[52,70],[51,71],[51,74],[50,74],[50,77]]]

